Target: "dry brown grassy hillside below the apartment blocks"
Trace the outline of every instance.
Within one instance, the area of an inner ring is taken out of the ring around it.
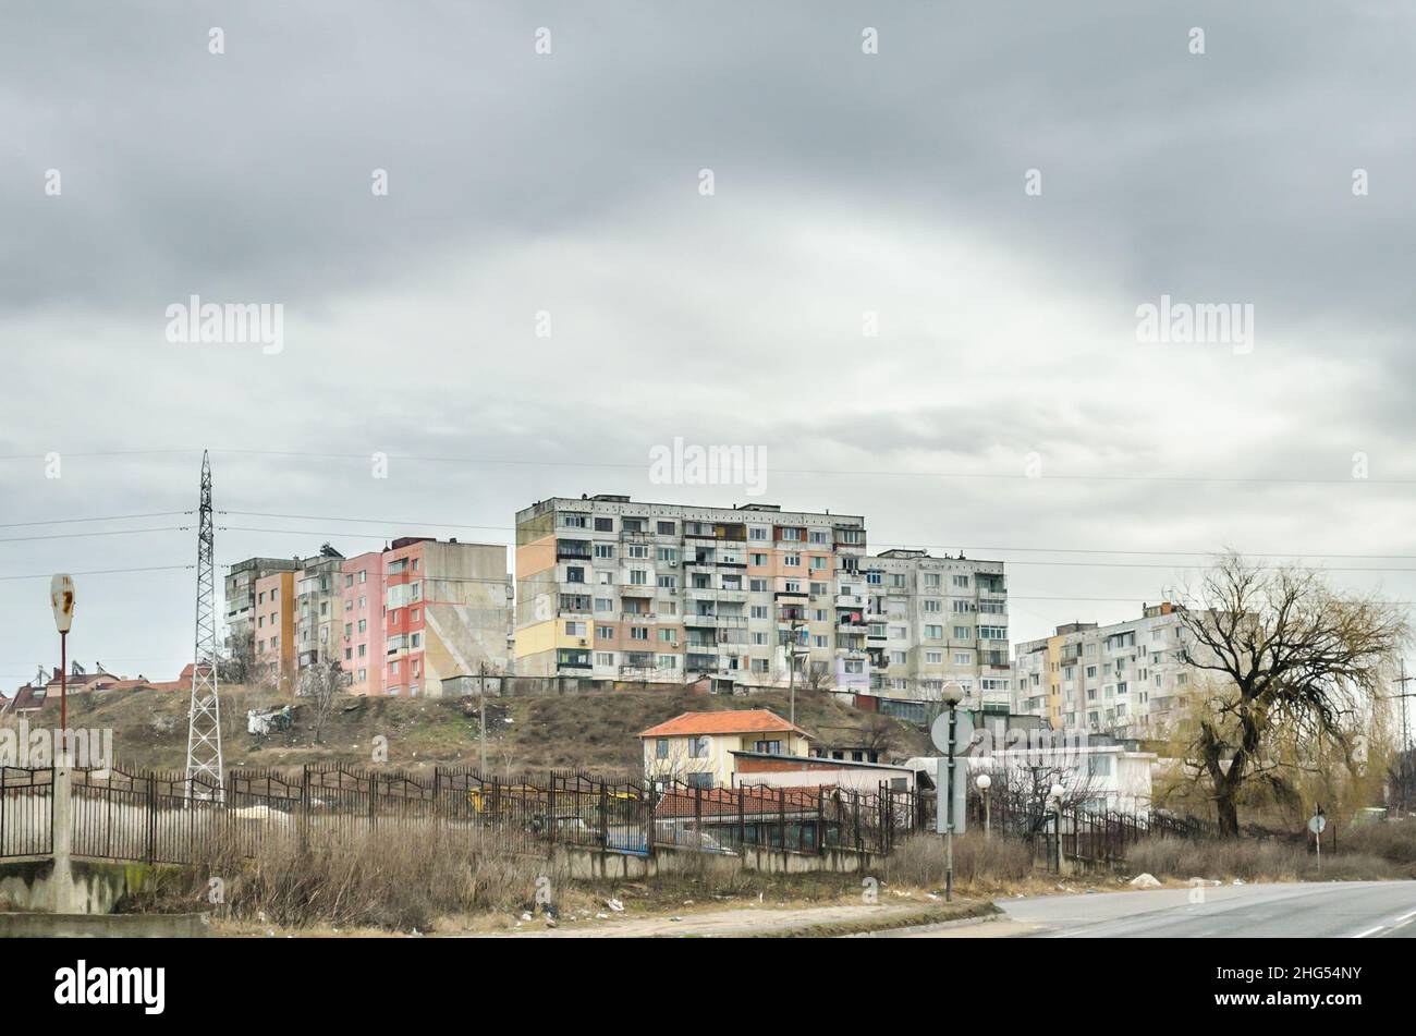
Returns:
[[[319,742],[314,710],[295,706],[292,730],[246,733],[246,709],[285,699],[222,688],[222,752],[228,767],[292,767],[344,761],[367,766],[374,737],[388,739],[388,766],[477,766],[477,699],[340,698]],[[927,754],[929,735],[841,703],[830,693],[799,691],[797,723],[827,744],[872,744],[882,757]],[[639,732],[681,712],[766,708],[787,715],[786,692],[728,698],[683,688],[555,698],[493,698],[487,705],[487,767],[497,773],[571,769],[637,771]],[[58,726],[57,703],[28,718]],[[7,716],[0,725],[14,726]],[[69,726],[113,730],[113,754],[129,767],[181,769],[187,757],[187,695],[170,691],[85,693],[69,698]]]

